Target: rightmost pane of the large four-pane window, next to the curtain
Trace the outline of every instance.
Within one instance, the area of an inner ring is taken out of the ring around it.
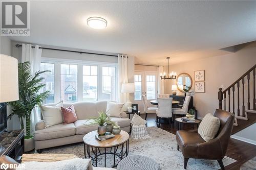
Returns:
[[[102,67],[102,99],[115,100],[115,67]]]

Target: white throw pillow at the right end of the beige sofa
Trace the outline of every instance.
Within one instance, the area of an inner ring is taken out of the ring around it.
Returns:
[[[122,108],[123,103],[108,101],[108,104],[106,105],[106,114],[109,114],[111,117],[121,117]]]

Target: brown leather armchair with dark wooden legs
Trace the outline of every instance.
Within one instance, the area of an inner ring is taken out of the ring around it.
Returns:
[[[234,115],[230,112],[216,109],[214,116],[220,119],[221,126],[217,137],[212,140],[204,141],[197,132],[176,132],[178,150],[180,149],[183,154],[185,169],[189,158],[218,160],[221,169],[224,169],[222,159],[227,151]]]

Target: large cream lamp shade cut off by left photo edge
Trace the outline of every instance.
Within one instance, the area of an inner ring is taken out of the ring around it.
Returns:
[[[0,54],[0,103],[18,99],[18,60]]]

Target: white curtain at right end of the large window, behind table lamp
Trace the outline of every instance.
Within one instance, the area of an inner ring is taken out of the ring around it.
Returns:
[[[127,94],[121,93],[122,84],[127,82],[128,82],[127,56],[119,54],[118,55],[118,101],[121,103],[125,103],[127,101]]]

